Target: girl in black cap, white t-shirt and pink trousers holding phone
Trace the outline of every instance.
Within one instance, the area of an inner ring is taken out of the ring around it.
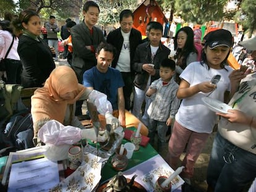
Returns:
[[[215,112],[203,104],[202,98],[209,96],[228,102],[231,91],[228,77],[232,69],[224,64],[232,45],[233,39],[229,31],[221,29],[211,32],[205,41],[202,61],[189,64],[180,75],[181,84],[176,96],[182,102],[169,140],[168,163],[176,169],[187,144],[186,156],[182,162],[185,168],[181,174],[187,183],[193,176],[194,164],[217,120]],[[211,78],[215,75],[221,76],[217,85],[211,83]]]

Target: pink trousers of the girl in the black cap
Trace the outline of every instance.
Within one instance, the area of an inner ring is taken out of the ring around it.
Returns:
[[[187,144],[186,156],[182,161],[182,165],[184,165],[185,168],[183,169],[181,176],[184,178],[191,178],[194,173],[195,162],[205,146],[208,136],[209,133],[197,133],[195,131],[188,130],[175,121],[168,146],[168,164],[171,165],[174,170],[177,169],[179,157]]]

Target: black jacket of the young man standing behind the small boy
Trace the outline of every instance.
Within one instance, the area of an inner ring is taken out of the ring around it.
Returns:
[[[155,75],[151,76],[151,82],[160,78],[159,69],[161,62],[168,58],[170,49],[166,48],[163,44],[159,44],[159,48],[156,51],[156,55],[153,59],[154,69],[156,69]],[[135,70],[134,85],[141,90],[145,90],[147,87],[149,74],[142,69],[143,64],[150,64],[151,62],[151,48],[150,43],[145,42],[137,46],[134,54],[133,69]]]

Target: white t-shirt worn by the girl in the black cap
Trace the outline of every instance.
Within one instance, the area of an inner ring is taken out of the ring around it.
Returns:
[[[213,99],[224,101],[224,92],[230,91],[229,74],[233,69],[226,66],[226,69],[207,69],[207,65],[201,65],[200,62],[192,62],[179,76],[190,83],[190,86],[197,85],[203,81],[210,81],[214,75],[221,75],[221,79],[217,84],[216,90],[209,96]],[[216,123],[217,115],[210,111],[203,104],[202,98],[208,93],[199,92],[193,96],[183,99],[179,111],[175,119],[183,127],[197,133],[211,133],[213,125]]]

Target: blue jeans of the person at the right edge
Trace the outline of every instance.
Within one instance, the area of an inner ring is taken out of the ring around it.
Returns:
[[[207,170],[215,191],[242,191],[256,177],[256,155],[238,148],[217,133]]]

